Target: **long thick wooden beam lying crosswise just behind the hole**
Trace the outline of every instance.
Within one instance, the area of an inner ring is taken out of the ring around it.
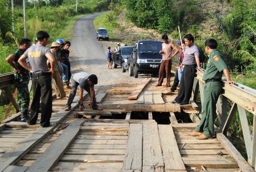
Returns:
[[[181,108],[177,104],[165,104],[165,105],[141,105],[141,104],[113,104],[113,103],[99,103],[99,107],[103,109],[120,109],[123,111],[158,111],[158,112],[181,112]],[[86,109],[90,107],[85,105]]]

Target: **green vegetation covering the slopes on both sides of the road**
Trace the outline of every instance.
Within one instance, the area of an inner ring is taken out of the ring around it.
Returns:
[[[56,38],[71,40],[77,18],[112,9],[94,21],[95,28],[106,27],[110,41],[133,45],[138,39],[160,39],[161,34],[177,40],[179,26],[181,35],[193,34],[195,43],[201,47],[207,38],[217,39],[232,79],[256,89],[256,0],[119,0],[110,3],[110,0],[81,0],[76,11],[75,1],[71,0],[26,1],[27,38],[34,40],[38,30],[45,30],[50,34],[50,42]],[[15,33],[10,1],[0,2],[0,74],[12,71],[5,58],[18,47],[24,35],[22,1],[14,1],[14,7]],[[6,109],[1,106],[0,112]],[[253,114],[247,113],[247,119],[252,126]],[[247,158],[238,114],[229,137]]]

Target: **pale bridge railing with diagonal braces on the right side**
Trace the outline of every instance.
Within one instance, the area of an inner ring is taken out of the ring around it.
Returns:
[[[193,99],[196,101],[198,91],[201,96],[201,103],[203,105],[203,88],[205,82],[203,81],[203,71],[197,71],[197,77],[193,86]],[[238,111],[241,121],[243,138],[245,140],[247,162],[255,167],[256,156],[256,90],[251,89],[240,83],[229,85],[226,82],[226,78],[222,78],[222,94],[217,102],[217,115],[219,121],[220,130],[224,135],[227,135],[227,131],[230,128],[235,114]],[[228,112],[228,100],[233,102],[231,109]],[[249,111],[254,115],[253,117],[253,131],[250,132],[250,126],[248,124],[246,111]]]

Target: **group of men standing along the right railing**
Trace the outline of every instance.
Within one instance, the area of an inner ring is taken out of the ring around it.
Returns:
[[[179,53],[179,70],[182,70],[181,78],[178,79],[177,70],[174,78],[171,91],[174,92],[179,84],[178,95],[170,103],[186,105],[190,101],[193,90],[193,83],[196,70],[202,70],[199,61],[199,49],[194,44],[194,37],[191,34],[186,34],[184,40],[178,42],[179,50],[168,41],[167,35],[162,36],[162,50],[159,52],[163,54],[161,67],[159,69],[159,79],[156,86],[161,86],[163,82],[163,74],[166,73],[166,87],[170,86],[170,71],[171,59],[175,54]],[[202,118],[199,125],[189,135],[197,139],[209,139],[214,135],[214,119],[216,116],[216,103],[219,95],[222,93],[221,78],[224,73],[226,82],[234,84],[231,81],[229,70],[223,60],[222,54],[217,50],[217,41],[215,39],[207,39],[205,41],[205,52],[209,59],[207,61],[203,80],[205,81],[205,88],[203,90],[202,101]],[[172,50],[175,53],[172,54]]]

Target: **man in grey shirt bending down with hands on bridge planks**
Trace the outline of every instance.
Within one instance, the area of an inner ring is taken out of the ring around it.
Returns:
[[[85,109],[83,106],[83,89],[87,91],[90,95],[90,104],[89,106],[93,108],[93,110],[102,110],[101,107],[98,107],[96,98],[95,98],[95,91],[94,85],[98,83],[98,78],[94,74],[87,74],[85,72],[76,73],[71,78],[71,92],[69,94],[69,100],[67,101],[67,105],[65,106],[65,111],[69,111],[71,109],[71,103],[75,98],[75,94],[77,94],[77,87],[79,86],[79,105],[80,110],[82,111]]]

